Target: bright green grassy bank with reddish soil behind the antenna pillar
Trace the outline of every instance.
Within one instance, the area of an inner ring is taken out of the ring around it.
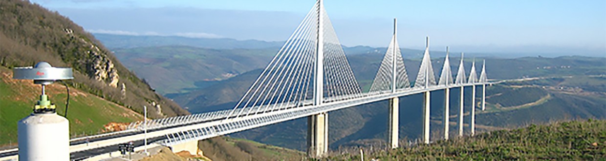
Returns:
[[[0,147],[16,145],[17,122],[32,113],[40,88],[40,85],[32,84],[32,80],[12,79],[12,71],[0,67]],[[67,99],[64,85],[48,85],[46,93],[56,105],[57,113],[63,116]],[[70,121],[70,137],[78,137],[110,132],[104,125],[142,120],[143,116],[101,97],[70,88],[67,119]]]

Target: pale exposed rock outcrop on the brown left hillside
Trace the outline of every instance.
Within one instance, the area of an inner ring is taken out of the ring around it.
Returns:
[[[78,39],[83,46],[88,47],[86,51],[88,57],[90,57],[90,59],[86,60],[88,76],[101,82],[106,82],[110,87],[118,88],[120,76],[118,75],[118,70],[114,68],[112,60],[107,57],[107,54],[103,54],[99,50],[99,47],[92,42],[75,36],[71,29],[65,28],[65,33],[72,39]]]

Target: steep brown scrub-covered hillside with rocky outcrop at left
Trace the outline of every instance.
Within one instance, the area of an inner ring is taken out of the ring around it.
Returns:
[[[39,61],[71,67],[75,79],[67,81],[70,87],[139,113],[144,105],[156,107],[150,108],[150,117],[187,114],[179,105],[156,94],[70,19],[29,1],[0,1],[0,6],[2,67],[27,67]]]

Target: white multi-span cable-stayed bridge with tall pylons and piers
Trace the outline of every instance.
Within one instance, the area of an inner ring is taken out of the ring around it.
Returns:
[[[301,117],[308,118],[308,153],[319,157],[328,150],[328,112],[381,100],[390,100],[388,142],[396,148],[399,138],[398,97],[424,94],[424,105],[419,107],[423,108],[424,143],[430,142],[430,91],[444,90],[445,102],[449,102],[450,88],[472,87],[470,98],[475,105],[476,86],[481,85],[484,110],[485,85],[492,84],[487,80],[484,64],[478,76],[474,61],[470,74],[465,76],[461,59],[456,77],[453,77],[447,52],[444,67],[436,79],[427,38],[421,68],[411,83],[397,41],[396,24],[395,21],[393,37],[368,92],[363,92],[356,81],[322,0],[319,0],[233,109],[133,122],[124,131],[72,139],[72,159],[111,155],[117,151],[115,148],[119,143],[144,138],[151,138],[155,145],[170,146],[173,151],[191,146],[197,148],[197,140]],[[463,135],[463,95],[461,90],[459,136]],[[448,139],[450,107],[445,104],[444,108],[444,139]],[[471,108],[472,135],[474,111],[475,108]],[[147,132],[144,133],[145,130]],[[0,159],[15,156],[15,151],[0,152]]]

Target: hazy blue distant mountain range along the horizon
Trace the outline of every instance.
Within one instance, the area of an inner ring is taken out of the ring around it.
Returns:
[[[190,46],[211,49],[263,49],[273,48],[278,50],[284,44],[284,41],[259,41],[259,40],[237,40],[230,38],[188,38],[184,36],[145,36],[145,35],[113,35],[107,33],[93,33],[97,39],[105,44],[106,47],[116,48],[136,48],[136,47],[160,47],[160,46]],[[387,45],[387,44],[385,44]],[[403,45],[403,44],[400,44]],[[515,58],[525,56],[595,56],[606,57],[606,51],[601,50],[578,50],[565,47],[547,47],[547,46],[522,46],[522,47],[495,47],[488,46],[461,46],[451,47],[451,57],[460,56],[465,52],[470,57],[501,57]],[[345,54],[364,54],[378,53],[384,54],[387,47],[369,47],[369,46],[343,46]],[[402,54],[405,59],[417,59],[422,57],[423,47],[402,48]],[[490,51],[490,52],[489,52]],[[444,50],[432,50],[432,57],[444,57]]]

